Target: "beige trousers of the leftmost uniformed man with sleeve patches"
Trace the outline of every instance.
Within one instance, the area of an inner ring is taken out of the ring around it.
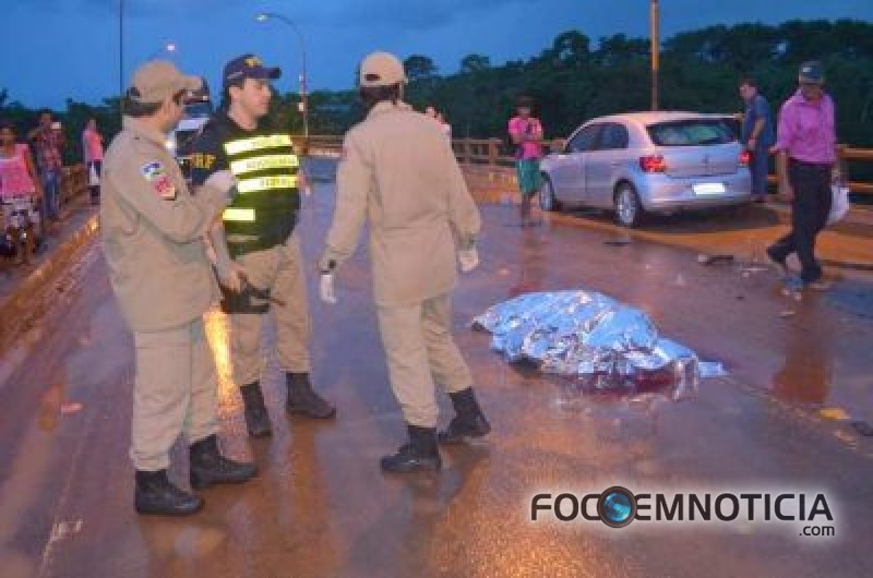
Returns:
[[[130,457],[133,467],[169,467],[169,450],[184,432],[194,443],[218,431],[218,376],[203,320],[181,327],[134,333],[136,380]]]

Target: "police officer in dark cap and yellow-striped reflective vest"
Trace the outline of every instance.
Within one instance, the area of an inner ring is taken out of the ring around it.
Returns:
[[[212,238],[219,280],[229,289],[223,306],[230,314],[234,380],[240,386],[246,425],[253,437],[271,434],[260,383],[261,327],[268,310],[276,322],[288,412],[310,418],[335,414],[309,380],[309,308],[300,240],[294,232],[302,173],[290,135],[268,127],[265,118],[273,91],[270,81],[278,76],[279,69],[264,67],[253,55],[228,62],[224,106],[191,148],[194,186],[229,170],[239,191]],[[275,301],[263,300],[263,292]]]

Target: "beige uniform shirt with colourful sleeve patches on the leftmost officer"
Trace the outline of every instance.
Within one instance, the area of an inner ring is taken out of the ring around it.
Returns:
[[[191,195],[165,139],[124,118],[103,165],[104,254],[133,332],[189,323],[219,297],[203,233],[227,195],[210,186]]]

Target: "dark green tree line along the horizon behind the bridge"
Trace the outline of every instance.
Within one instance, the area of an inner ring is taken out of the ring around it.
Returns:
[[[410,81],[406,98],[418,109],[432,105],[443,111],[456,137],[502,137],[515,99],[529,95],[547,136],[562,137],[594,117],[647,110],[649,58],[647,38],[617,34],[593,43],[575,29],[527,60],[494,65],[487,56],[468,55],[452,74],[441,74],[431,58],[412,55],[404,62]],[[799,64],[811,59],[824,63],[840,142],[873,147],[873,24],[863,21],[745,23],[675,34],[661,47],[660,108],[739,112],[738,86],[750,76],[776,111],[797,88]],[[299,95],[277,96],[279,125],[301,132]],[[319,91],[309,104],[313,134],[342,134],[363,116],[352,89]],[[36,112],[9,103],[0,91],[0,118],[13,120],[20,134],[35,124]],[[120,127],[116,98],[96,106],[68,99],[57,115],[73,143],[88,117],[97,118],[107,136]],[[77,152],[68,154],[74,159]]]

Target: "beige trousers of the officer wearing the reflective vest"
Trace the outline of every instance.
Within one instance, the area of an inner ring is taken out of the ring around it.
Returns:
[[[284,245],[265,251],[252,251],[237,257],[249,281],[259,289],[270,289],[272,297],[285,306],[270,304],[276,322],[276,350],[284,372],[308,373],[309,305],[300,239],[295,233]],[[234,313],[230,315],[230,362],[234,382],[248,385],[261,378],[261,327],[263,315]]]

